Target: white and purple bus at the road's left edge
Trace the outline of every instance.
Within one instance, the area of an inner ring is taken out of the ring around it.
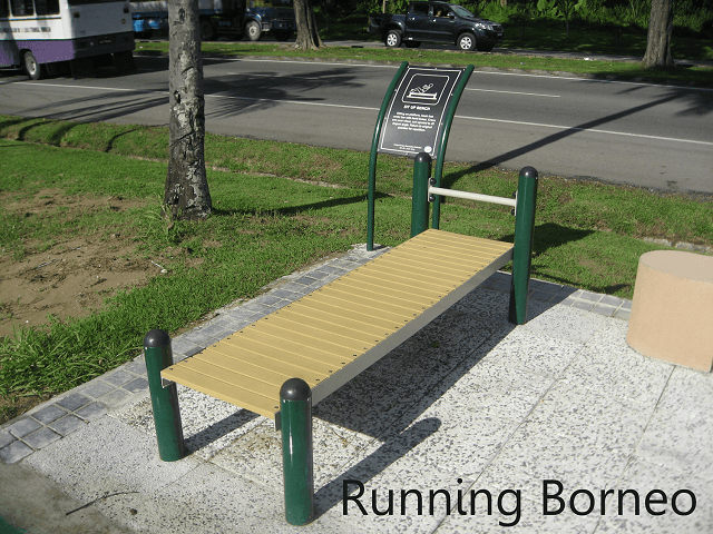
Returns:
[[[128,0],[0,0],[0,65],[21,67],[33,80],[69,61],[131,65],[134,31]]]

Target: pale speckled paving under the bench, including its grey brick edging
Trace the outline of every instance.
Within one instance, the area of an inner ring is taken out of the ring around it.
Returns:
[[[218,310],[175,357],[375,254]],[[270,419],[179,386],[189,454],[158,459],[140,357],[0,427],[0,515],[32,533],[713,532],[713,375],[628,348],[628,300],[530,289],[515,327],[495,274],[315,408],[305,527],[284,520]]]

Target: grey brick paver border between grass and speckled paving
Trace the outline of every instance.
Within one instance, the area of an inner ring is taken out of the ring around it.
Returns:
[[[172,340],[174,360],[179,362],[203,350],[234,332],[319,289],[352,269],[387,251],[368,251],[359,245],[349,253],[284,276],[266,287],[267,293],[250,301],[238,300],[219,308],[215,317]],[[501,293],[510,291],[510,275],[498,271],[481,286]],[[607,317],[628,319],[632,301],[609,295],[576,289],[537,279],[530,280],[529,297],[553,305]],[[0,459],[12,464],[51,443],[104,417],[109,411],[148,396],[148,378],[144,356],[82,384],[37,406],[0,427]]]

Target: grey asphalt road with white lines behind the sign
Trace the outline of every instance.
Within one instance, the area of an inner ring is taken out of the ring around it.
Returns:
[[[166,125],[166,58],[138,72],[31,82],[0,73],[0,113]],[[395,66],[207,59],[215,134],[369,150]],[[473,72],[447,159],[713,194],[713,91],[575,77]]]

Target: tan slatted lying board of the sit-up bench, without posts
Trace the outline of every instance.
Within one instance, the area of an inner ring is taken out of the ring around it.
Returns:
[[[275,418],[304,379],[319,403],[512,258],[512,244],[429,229],[162,372]]]

